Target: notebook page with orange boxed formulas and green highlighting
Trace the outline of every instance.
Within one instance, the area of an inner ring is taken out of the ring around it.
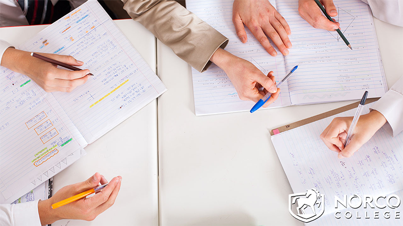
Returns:
[[[87,143],[53,95],[29,77],[0,67],[0,84],[0,203],[11,203]]]

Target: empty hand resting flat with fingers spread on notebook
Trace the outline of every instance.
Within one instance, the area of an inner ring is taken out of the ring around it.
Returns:
[[[289,54],[287,48],[292,46],[288,39],[288,35],[291,35],[290,26],[267,0],[235,0],[232,6],[232,22],[242,43],[247,41],[243,27],[245,24],[270,55],[276,56],[277,52],[268,42],[266,35],[283,55]]]

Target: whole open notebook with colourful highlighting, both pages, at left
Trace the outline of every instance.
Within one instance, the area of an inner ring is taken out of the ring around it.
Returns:
[[[0,203],[11,203],[76,161],[87,146],[166,87],[97,1],[88,1],[20,49],[71,55],[95,75],[71,93],[47,93],[2,67]]]

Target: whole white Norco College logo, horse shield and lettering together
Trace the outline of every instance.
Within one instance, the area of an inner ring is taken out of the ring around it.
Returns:
[[[319,218],[324,212],[324,195],[319,194],[316,189],[307,190],[305,193],[290,194],[288,202],[288,210],[291,215],[305,223]],[[343,198],[334,196],[333,215],[335,220],[342,217],[346,219],[378,219],[380,217],[399,219],[400,212],[393,211],[393,209],[399,207],[400,202],[400,197],[395,194],[388,196],[350,195],[350,197],[344,195]],[[385,209],[386,207],[388,209]],[[363,208],[364,211],[355,210],[358,208]],[[345,211],[341,211],[341,209],[345,209]],[[367,211],[367,209],[375,211]]]

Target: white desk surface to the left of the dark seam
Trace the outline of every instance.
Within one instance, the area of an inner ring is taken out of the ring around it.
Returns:
[[[155,71],[154,35],[132,20],[115,23]],[[46,26],[1,28],[1,38],[18,47]],[[120,175],[122,184],[111,208],[94,221],[73,220],[69,225],[157,225],[157,101],[152,101],[85,150],[86,156],[54,176],[53,192],[84,181],[95,172],[107,179]],[[52,225],[64,225],[65,222],[56,221]]]

